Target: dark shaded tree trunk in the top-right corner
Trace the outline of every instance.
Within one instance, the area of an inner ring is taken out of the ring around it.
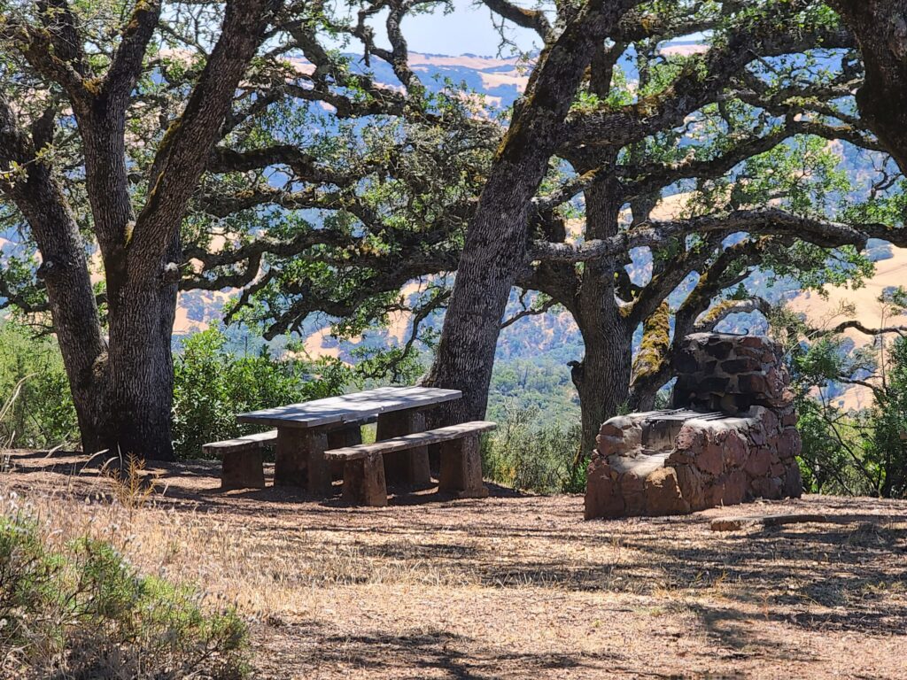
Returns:
[[[907,0],[833,0],[863,54],[863,120],[907,173]]]

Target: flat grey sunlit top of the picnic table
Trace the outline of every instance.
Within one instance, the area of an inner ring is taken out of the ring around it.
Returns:
[[[356,423],[380,413],[422,408],[450,402],[462,396],[463,393],[459,390],[442,390],[437,387],[378,387],[366,392],[239,413],[236,419],[239,423],[259,423],[272,427],[319,427]]]

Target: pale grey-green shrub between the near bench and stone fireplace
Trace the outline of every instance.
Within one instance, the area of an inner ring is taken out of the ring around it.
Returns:
[[[483,475],[537,493],[581,491],[585,466],[577,464],[580,424],[535,425],[538,416],[536,409],[507,414],[500,429],[484,442]]]

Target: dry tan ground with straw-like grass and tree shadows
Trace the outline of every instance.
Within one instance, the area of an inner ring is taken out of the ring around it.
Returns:
[[[907,502],[807,497],[582,520],[580,496],[217,491],[216,463],[116,497],[78,458],[6,452],[3,511],[112,539],[146,572],[236,603],[258,678],[905,678]],[[835,524],[713,532],[717,517]]]

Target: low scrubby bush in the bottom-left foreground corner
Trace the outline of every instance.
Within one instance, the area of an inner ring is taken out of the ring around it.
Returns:
[[[0,671],[5,677],[216,678],[248,673],[232,610],[143,577],[106,542],[44,545],[34,522],[0,518]]]

